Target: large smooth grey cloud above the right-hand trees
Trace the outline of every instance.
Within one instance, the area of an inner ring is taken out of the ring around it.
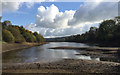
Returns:
[[[86,2],[75,12],[69,25],[89,24],[114,18],[118,15],[117,2]]]

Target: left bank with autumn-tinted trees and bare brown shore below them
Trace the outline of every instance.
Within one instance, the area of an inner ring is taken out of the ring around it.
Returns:
[[[12,25],[10,21],[0,22],[2,27],[2,52],[25,49],[45,44],[44,37],[25,29],[23,26]]]

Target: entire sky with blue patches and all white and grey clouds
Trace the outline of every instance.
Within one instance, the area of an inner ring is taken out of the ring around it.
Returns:
[[[60,37],[82,34],[91,26],[98,27],[103,20],[118,15],[118,0],[64,1],[4,0],[0,4],[2,21],[10,20],[12,24],[23,25],[33,32],[41,33],[44,37]]]

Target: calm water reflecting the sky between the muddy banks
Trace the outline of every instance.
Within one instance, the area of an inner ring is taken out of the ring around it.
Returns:
[[[48,49],[50,47],[90,47],[83,43],[68,43],[68,42],[51,42],[42,46],[36,46],[29,49],[16,50],[3,53],[3,62],[5,63],[30,63],[30,62],[54,62],[62,59],[87,59],[87,60],[100,60],[85,55],[78,54],[77,50],[54,50]]]

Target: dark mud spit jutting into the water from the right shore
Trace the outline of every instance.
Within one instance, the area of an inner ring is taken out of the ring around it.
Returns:
[[[78,54],[100,58],[101,61],[118,62],[120,63],[120,48],[115,47],[52,47],[54,50],[76,50]]]

